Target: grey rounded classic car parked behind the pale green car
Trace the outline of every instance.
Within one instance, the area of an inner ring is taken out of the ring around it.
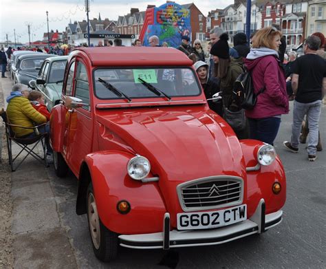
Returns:
[[[17,69],[14,71],[14,83],[28,85],[30,80],[35,79],[39,74],[41,65],[52,54],[35,53],[21,55],[17,59]]]

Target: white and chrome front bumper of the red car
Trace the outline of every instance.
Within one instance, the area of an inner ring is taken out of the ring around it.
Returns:
[[[241,237],[263,233],[280,224],[283,211],[265,215],[265,202],[260,200],[250,219],[212,230],[170,230],[170,215],[165,213],[162,233],[142,235],[120,235],[120,246],[126,248],[182,248],[186,246],[209,246],[224,244]]]

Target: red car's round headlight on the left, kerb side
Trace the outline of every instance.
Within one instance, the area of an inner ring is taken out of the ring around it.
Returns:
[[[136,156],[129,160],[127,171],[133,180],[142,180],[151,171],[151,164],[149,160],[142,156]]]

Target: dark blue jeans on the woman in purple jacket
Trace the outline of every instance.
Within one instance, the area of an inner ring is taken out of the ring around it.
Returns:
[[[279,132],[281,118],[248,118],[250,138],[274,144],[274,139]]]

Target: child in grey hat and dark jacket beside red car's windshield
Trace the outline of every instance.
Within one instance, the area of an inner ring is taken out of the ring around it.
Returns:
[[[207,99],[212,98],[213,94],[219,92],[219,80],[217,78],[208,78],[208,64],[204,61],[197,61],[193,66],[204,89],[205,97]],[[210,109],[219,114],[219,116],[223,116],[222,102],[215,103],[213,100],[208,100],[207,103]]]

